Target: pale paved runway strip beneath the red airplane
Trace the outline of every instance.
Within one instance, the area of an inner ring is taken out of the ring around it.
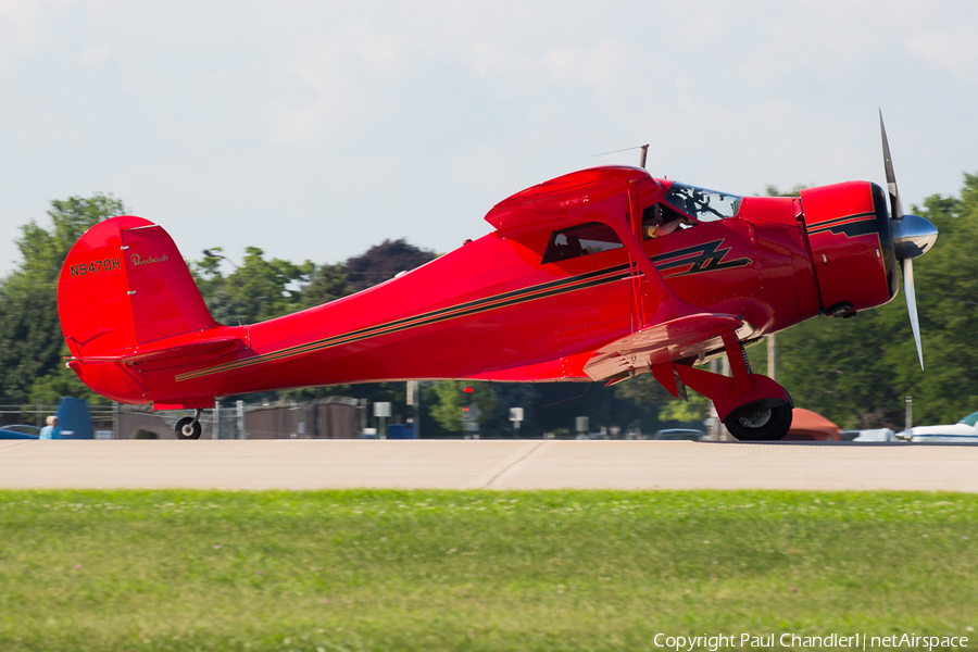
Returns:
[[[0,441],[0,488],[978,492],[978,447],[691,441]]]

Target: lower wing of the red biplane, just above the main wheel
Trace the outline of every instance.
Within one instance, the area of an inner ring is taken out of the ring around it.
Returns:
[[[723,347],[720,337],[724,333],[737,331],[738,338],[744,339],[753,330],[738,315],[686,315],[649,326],[601,347],[584,369],[594,380],[606,380],[635,369],[648,371],[653,364],[715,351]]]

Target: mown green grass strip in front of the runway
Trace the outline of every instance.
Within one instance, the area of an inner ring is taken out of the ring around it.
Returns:
[[[974,645],[976,546],[962,494],[0,491],[0,650]]]

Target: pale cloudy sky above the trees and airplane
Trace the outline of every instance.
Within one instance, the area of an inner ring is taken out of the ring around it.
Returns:
[[[185,258],[437,252],[593,165],[740,195],[978,172],[973,0],[0,0],[0,275],[95,192]]]

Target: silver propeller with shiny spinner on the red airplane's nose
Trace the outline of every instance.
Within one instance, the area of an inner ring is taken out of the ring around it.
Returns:
[[[914,331],[914,343],[917,344],[917,358],[920,360],[920,371],[923,371],[924,350],[920,346],[920,322],[917,318],[917,297],[914,290],[914,259],[924,255],[933,247],[938,231],[924,217],[903,214],[900,190],[896,188],[896,175],[893,173],[893,160],[890,156],[890,143],[887,142],[887,127],[882,122],[882,110],[879,112],[879,131],[882,136],[887,191],[890,193],[890,234],[893,236],[896,260],[900,261],[903,268],[903,294],[906,297],[906,311],[910,313],[911,329]]]

